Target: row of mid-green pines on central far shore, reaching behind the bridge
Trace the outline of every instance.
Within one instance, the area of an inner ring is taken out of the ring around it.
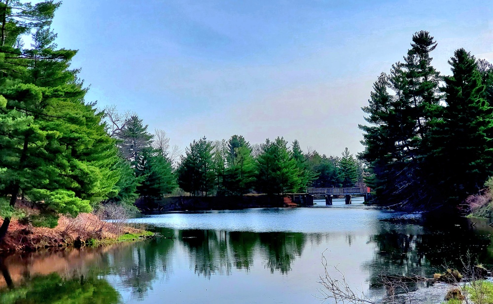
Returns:
[[[363,185],[362,164],[346,148],[342,157],[304,153],[277,137],[251,145],[241,135],[194,140],[176,169],[178,185],[193,196],[305,193],[308,187]]]

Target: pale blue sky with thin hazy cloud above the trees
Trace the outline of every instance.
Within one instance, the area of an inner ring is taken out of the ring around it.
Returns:
[[[459,47],[493,62],[491,0],[64,0],[53,29],[79,50],[88,101],[181,147],[239,134],[356,153],[372,83],[415,32],[444,73]]]

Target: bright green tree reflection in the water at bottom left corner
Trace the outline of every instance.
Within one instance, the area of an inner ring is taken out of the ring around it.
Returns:
[[[116,304],[118,292],[97,275],[63,279],[57,273],[35,276],[22,286],[0,292],[2,304]]]

